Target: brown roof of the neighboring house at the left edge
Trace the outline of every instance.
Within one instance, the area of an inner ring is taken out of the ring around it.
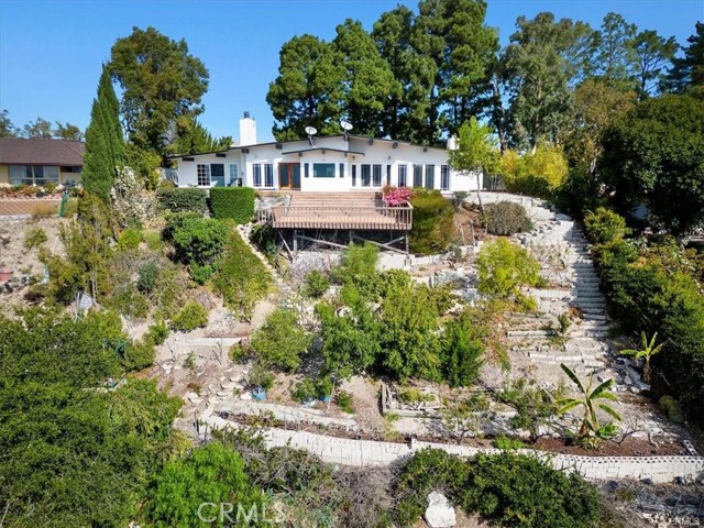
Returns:
[[[2,165],[59,165],[76,167],[84,164],[85,144],[69,140],[0,139]]]

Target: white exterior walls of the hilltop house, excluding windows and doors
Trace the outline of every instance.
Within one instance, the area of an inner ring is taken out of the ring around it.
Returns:
[[[394,147],[394,145],[396,145]],[[278,146],[278,147],[277,147]],[[475,190],[477,178],[475,175],[458,174],[449,169],[449,188],[441,189],[441,166],[448,165],[448,152],[443,148],[426,148],[408,143],[392,142],[386,140],[370,140],[350,138],[344,141],[342,136],[320,138],[312,147],[308,140],[265,143],[246,147],[249,152],[242,152],[243,147],[232,147],[227,151],[224,157],[216,154],[200,154],[193,157],[194,161],[178,161],[178,185],[180,187],[198,186],[197,166],[199,164],[224,164],[226,185],[230,185],[230,165],[237,164],[239,177],[243,178],[243,185],[261,188],[262,190],[279,190],[279,164],[300,164],[300,190],[302,191],[346,191],[381,189],[387,182],[387,167],[391,167],[391,185],[398,186],[399,167],[406,166],[406,184],[414,186],[414,166],[422,166],[422,186],[426,185],[426,166],[435,166],[433,188],[443,193],[458,190]],[[344,152],[340,152],[344,151]],[[314,164],[333,163],[334,177],[315,177]],[[261,164],[262,185],[254,186],[254,165]],[[273,165],[273,186],[266,186],[265,165]],[[306,174],[308,165],[308,177]],[[340,164],[343,165],[343,176],[340,174]],[[371,185],[362,186],[362,166],[370,165]],[[381,165],[381,185],[374,185],[373,166]],[[352,172],[355,170],[353,182]],[[482,178],[479,178],[481,187]],[[211,184],[215,185],[215,184]]]

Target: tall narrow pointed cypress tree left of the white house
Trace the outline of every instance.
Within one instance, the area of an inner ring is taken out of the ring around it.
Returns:
[[[98,82],[98,96],[92,101],[90,124],[86,130],[84,187],[102,200],[110,199],[118,167],[124,165],[124,138],[120,125],[120,103],[112,87],[110,73],[103,65]]]

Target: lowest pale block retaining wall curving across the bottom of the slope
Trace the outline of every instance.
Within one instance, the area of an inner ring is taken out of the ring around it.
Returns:
[[[224,426],[222,420],[212,426]],[[409,444],[350,440],[305,431],[267,429],[268,447],[290,446],[305,449],[323,461],[345,465],[388,465],[426,448],[442,449],[461,457],[477,453],[498,453],[497,449],[471,448],[444,443],[413,441]],[[539,457],[557,470],[576,471],[587,480],[649,479],[653,483],[670,483],[680,477],[692,482],[704,476],[704,457],[576,457],[544,453],[529,449],[518,450],[522,454]]]

